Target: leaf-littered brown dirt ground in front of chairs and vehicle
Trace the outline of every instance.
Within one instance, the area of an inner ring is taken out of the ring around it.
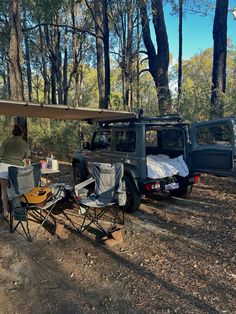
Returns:
[[[187,200],[144,198],[114,247],[73,229],[30,243],[1,222],[0,313],[236,313],[235,211],[236,180],[202,176]]]

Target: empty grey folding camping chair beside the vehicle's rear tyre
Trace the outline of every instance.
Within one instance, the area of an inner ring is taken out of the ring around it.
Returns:
[[[110,233],[103,227],[102,221],[110,221],[113,225],[124,224],[123,206],[126,203],[125,182],[122,180],[124,166],[121,163],[93,163],[94,193],[79,201],[80,212],[83,215],[81,231],[95,225],[98,230]],[[78,196],[80,189],[91,184],[93,179],[75,186]],[[113,229],[114,230],[114,229]]]

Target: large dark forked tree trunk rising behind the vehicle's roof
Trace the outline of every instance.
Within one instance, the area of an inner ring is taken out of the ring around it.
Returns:
[[[147,49],[149,71],[154,79],[158,108],[161,115],[172,111],[171,94],[168,81],[169,44],[166,32],[162,0],[152,0],[153,25],[158,53],[151,39],[146,0],[140,2],[143,41]]]

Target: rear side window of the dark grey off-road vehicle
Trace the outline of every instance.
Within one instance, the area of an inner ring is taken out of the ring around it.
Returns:
[[[133,153],[136,149],[136,133],[134,131],[116,131],[115,149],[118,152]]]

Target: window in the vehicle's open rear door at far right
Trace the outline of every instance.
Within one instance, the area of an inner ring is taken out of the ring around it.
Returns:
[[[198,127],[196,139],[199,145],[232,144],[232,130],[227,123]]]

